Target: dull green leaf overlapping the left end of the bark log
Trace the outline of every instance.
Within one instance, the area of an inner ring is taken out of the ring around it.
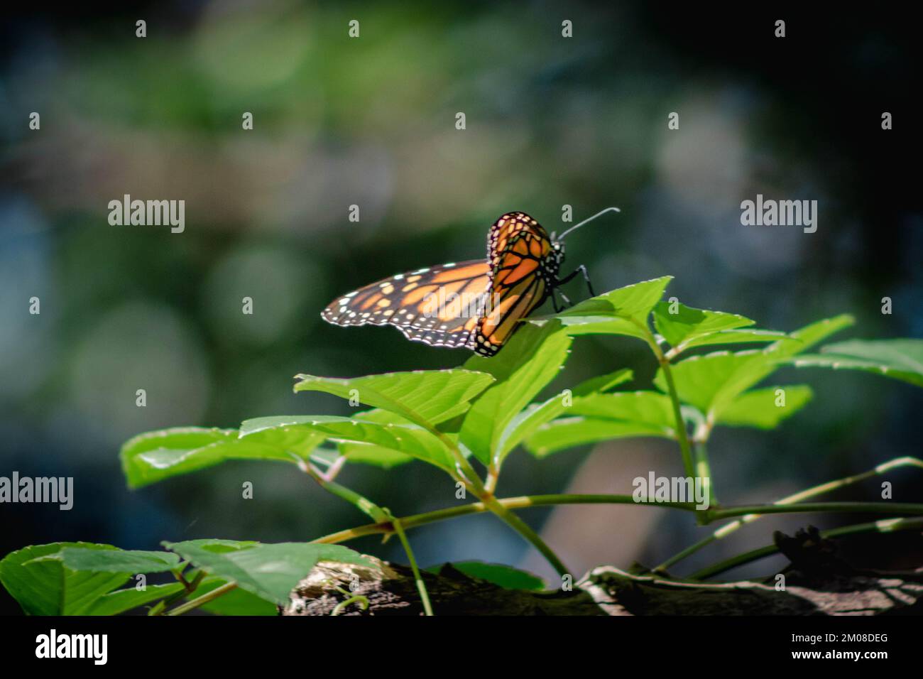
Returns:
[[[311,542],[258,543],[245,549],[215,552],[212,540],[164,542],[168,550],[212,576],[237,583],[260,599],[284,605],[289,593],[321,561],[378,567],[362,554],[342,545]],[[225,546],[226,547],[226,546]]]

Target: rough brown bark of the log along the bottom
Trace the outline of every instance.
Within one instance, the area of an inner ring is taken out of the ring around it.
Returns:
[[[451,564],[423,573],[437,615],[881,615],[923,613],[923,569],[857,570],[837,559],[816,530],[776,544],[792,562],[777,578],[707,583],[615,566],[593,568],[571,591],[501,588],[467,576]],[[374,559],[374,557],[369,557]],[[282,615],[420,615],[423,606],[410,568],[375,560],[380,570],[354,564],[318,564],[292,593]]]

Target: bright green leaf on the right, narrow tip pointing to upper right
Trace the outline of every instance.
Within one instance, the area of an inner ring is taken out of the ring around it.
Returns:
[[[737,395],[771,375],[781,360],[808,349],[852,322],[851,316],[836,316],[811,323],[762,350],[722,351],[679,361],[672,366],[679,400],[696,406],[710,418],[720,418]],[[657,371],[653,383],[662,392],[667,391],[663,368]]]

